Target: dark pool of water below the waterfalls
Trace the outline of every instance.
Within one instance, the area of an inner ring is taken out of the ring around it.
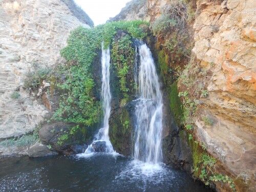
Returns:
[[[0,159],[0,191],[210,191],[181,170],[123,156]]]

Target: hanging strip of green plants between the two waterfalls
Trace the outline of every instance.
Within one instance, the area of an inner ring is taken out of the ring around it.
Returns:
[[[134,66],[135,58],[135,49],[132,47],[132,36],[125,35],[113,41],[111,58],[119,78],[120,91],[122,93],[121,106],[124,106],[129,98],[129,84],[133,83],[133,79],[129,79],[128,76],[129,70]]]

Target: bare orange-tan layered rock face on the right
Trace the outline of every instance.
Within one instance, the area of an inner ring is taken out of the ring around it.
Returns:
[[[229,171],[256,172],[256,2],[198,1],[193,52],[211,68],[209,96],[196,121],[197,137]]]

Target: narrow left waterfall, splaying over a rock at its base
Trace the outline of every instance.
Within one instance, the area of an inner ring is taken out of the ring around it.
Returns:
[[[95,135],[95,139],[91,145],[88,146],[85,154],[94,152],[113,153],[113,146],[109,138],[109,118],[111,111],[111,93],[110,93],[110,48],[104,49],[102,43],[101,56],[101,98],[103,104],[103,127]]]

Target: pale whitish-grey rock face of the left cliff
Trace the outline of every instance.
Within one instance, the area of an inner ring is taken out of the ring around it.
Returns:
[[[48,113],[40,99],[34,99],[24,90],[25,75],[33,66],[64,62],[59,52],[65,47],[69,32],[80,25],[89,26],[80,22],[60,0],[2,0],[0,18],[0,140],[3,140],[31,132]]]

